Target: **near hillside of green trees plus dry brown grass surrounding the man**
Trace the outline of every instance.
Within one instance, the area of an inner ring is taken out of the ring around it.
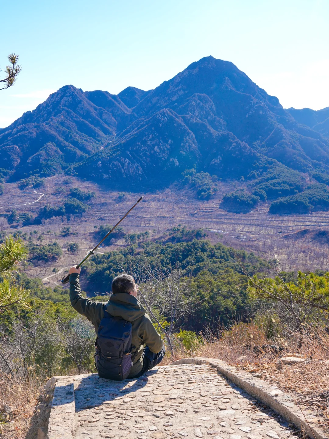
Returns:
[[[61,233],[69,236],[70,227]],[[212,245],[201,229],[174,227],[153,240],[145,234],[125,237],[125,248],[89,260],[82,282],[89,295],[98,293],[94,300],[107,301],[113,277],[122,270],[134,274],[139,300],[170,346],[164,363],[191,355],[236,362],[247,355],[250,364],[261,363],[265,369],[268,363],[274,368],[277,353],[286,349],[316,358],[326,355],[329,273],[278,272],[277,261]],[[14,245],[13,238],[9,240]],[[29,241],[30,258],[35,247],[41,257],[51,252],[50,245],[36,245],[32,237]],[[18,244],[18,257],[24,261],[26,249]],[[0,270],[3,273],[4,267]],[[20,417],[31,417],[29,410],[38,398],[40,408],[51,399],[49,393],[38,392],[48,378],[94,371],[96,334],[72,308],[68,288],[45,287],[41,279],[30,279],[21,270],[5,287],[0,288],[0,299],[8,287],[21,299],[10,306],[0,301],[0,424],[5,428],[12,417],[25,431]],[[169,291],[178,299],[175,318]],[[168,335],[169,327],[173,330]],[[12,410],[9,418],[7,406]]]

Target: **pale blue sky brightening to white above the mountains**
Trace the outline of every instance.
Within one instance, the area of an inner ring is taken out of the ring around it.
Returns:
[[[212,55],[232,61],[285,108],[329,106],[328,0],[17,0],[0,10],[0,127],[65,84],[144,90]]]

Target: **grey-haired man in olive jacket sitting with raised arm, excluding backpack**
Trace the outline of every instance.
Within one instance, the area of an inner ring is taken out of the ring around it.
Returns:
[[[160,335],[145,313],[142,304],[136,298],[138,285],[129,274],[120,274],[112,282],[112,295],[104,302],[95,302],[82,297],[79,284],[80,268],[71,267],[70,301],[79,314],[87,317],[98,334],[100,321],[105,311],[114,318],[122,318],[132,324],[132,358],[133,363],[128,378],[138,378],[161,362],[165,347]]]

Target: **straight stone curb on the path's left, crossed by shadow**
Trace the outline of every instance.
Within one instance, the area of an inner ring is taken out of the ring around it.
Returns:
[[[47,439],[72,439],[75,431],[74,377],[53,377],[55,385],[50,410]]]

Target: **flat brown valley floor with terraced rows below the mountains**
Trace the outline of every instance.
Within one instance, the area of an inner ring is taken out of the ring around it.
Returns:
[[[222,195],[232,190],[232,185],[219,184],[219,191],[214,199],[200,201],[195,198],[195,192],[186,188],[177,188],[175,185],[153,193],[125,194],[125,198],[118,199],[118,191],[109,191],[97,184],[82,181],[72,177],[70,185],[63,184],[64,175],[57,175],[46,179],[45,186],[38,189],[45,195],[35,204],[18,206],[18,212],[31,212],[35,216],[39,209],[46,204],[59,205],[61,198],[67,196],[70,187],[80,187],[82,190],[94,191],[93,207],[81,218],[79,216],[69,222],[66,217],[47,219],[43,225],[21,227],[24,232],[37,230],[38,235],[44,233],[43,244],[58,241],[63,247],[63,256],[53,263],[40,263],[39,266],[26,268],[31,277],[52,276],[53,268],[64,269],[81,259],[86,251],[96,244],[93,237],[94,226],[114,224],[124,214],[138,195],[144,195],[143,203],[129,215],[122,224],[128,233],[139,233],[148,230],[151,237],[161,236],[166,230],[179,223],[190,229],[207,229],[211,242],[221,241],[234,248],[243,248],[254,251],[266,259],[279,259],[282,270],[315,270],[327,266],[329,257],[329,243],[325,239],[314,239],[313,232],[329,230],[329,212],[315,212],[311,215],[274,216],[267,212],[268,206],[261,206],[247,214],[234,214],[218,209]],[[32,202],[39,196],[32,188],[20,191],[16,183],[4,184],[5,193],[1,196],[1,206],[25,204]],[[64,194],[55,193],[56,188],[63,187]],[[0,208],[1,213],[11,212],[11,208]],[[71,226],[75,236],[62,237],[61,228]],[[312,233],[305,234],[298,239],[286,238],[298,230],[308,228]],[[15,229],[8,229],[13,231]],[[46,232],[50,230],[50,234]],[[225,234],[221,234],[220,230]],[[155,233],[153,232],[155,231]],[[78,242],[79,255],[68,254],[66,243]],[[120,248],[120,243],[118,243]],[[100,252],[113,250],[114,247],[100,249]],[[50,281],[59,281],[63,273],[50,277],[45,283],[54,287]]]

